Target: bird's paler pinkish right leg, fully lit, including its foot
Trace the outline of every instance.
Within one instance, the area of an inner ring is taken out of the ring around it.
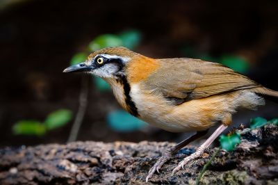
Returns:
[[[177,172],[178,170],[180,170],[181,168],[183,168],[183,166],[188,163],[189,161],[196,159],[197,157],[199,157],[200,155],[203,154],[204,150],[211,145],[211,143],[213,143],[213,140],[215,140],[215,138],[217,138],[222,131],[224,131],[224,129],[226,129],[228,126],[221,124],[220,127],[218,127],[218,129],[216,129],[214,131],[214,133],[196,150],[195,153],[191,154],[190,156],[187,156],[185,159],[183,159],[183,161],[181,161],[179,163],[179,165],[174,168],[172,174],[174,174],[174,172]]]

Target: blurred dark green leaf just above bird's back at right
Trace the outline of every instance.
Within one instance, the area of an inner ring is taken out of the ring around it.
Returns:
[[[240,73],[246,73],[250,69],[250,64],[240,56],[224,55],[220,63]]]

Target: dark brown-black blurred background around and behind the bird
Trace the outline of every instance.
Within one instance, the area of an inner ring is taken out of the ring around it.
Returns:
[[[154,58],[193,57],[238,66],[278,90],[278,1],[0,1],[0,146],[65,143],[79,107],[81,78],[63,74],[74,54],[104,33],[136,29],[135,51]],[[239,62],[238,62],[239,61]],[[90,79],[78,140],[179,141],[183,134],[142,127],[117,131],[107,124],[120,109],[111,91]],[[73,118],[47,133],[16,134],[19,120],[44,120],[66,108]],[[235,123],[278,117],[278,105],[244,111]]]

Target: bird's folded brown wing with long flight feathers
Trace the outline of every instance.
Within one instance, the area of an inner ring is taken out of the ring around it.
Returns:
[[[191,58],[158,61],[161,67],[147,79],[146,85],[152,92],[169,98],[199,99],[260,86],[218,63]]]

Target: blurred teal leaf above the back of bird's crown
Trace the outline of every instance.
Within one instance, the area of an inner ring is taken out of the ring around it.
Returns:
[[[122,44],[124,47],[134,49],[139,45],[142,35],[137,30],[129,30],[120,33],[119,37],[122,40]]]

